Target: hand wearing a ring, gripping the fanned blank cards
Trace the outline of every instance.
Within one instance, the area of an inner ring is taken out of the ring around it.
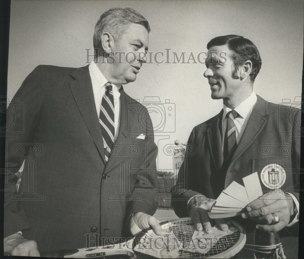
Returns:
[[[293,212],[292,197],[280,190],[268,192],[250,202],[247,212],[242,213],[243,218],[250,218],[260,224],[257,229],[266,232],[277,232],[288,225]],[[279,223],[271,225],[272,214],[275,213],[280,219]]]

